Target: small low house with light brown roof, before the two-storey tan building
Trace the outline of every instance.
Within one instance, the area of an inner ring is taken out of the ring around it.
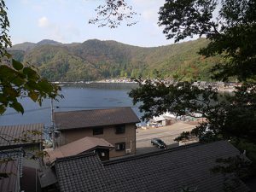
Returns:
[[[101,160],[109,160],[109,150],[113,145],[105,139],[97,137],[84,137],[72,143],[67,143],[54,150],[47,150],[44,163],[51,165],[57,158],[68,157],[86,152],[96,151]]]

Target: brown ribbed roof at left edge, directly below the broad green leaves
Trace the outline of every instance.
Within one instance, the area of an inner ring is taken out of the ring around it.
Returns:
[[[39,132],[42,134],[39,134]],[[44,124],[26,124],[26,125],[2,125],[0,126],[0,148],[8,146],[19,146],[28,143],[42,143]],[[38,134],[33,134],[38,132]],[[26,141],[17,139],[25,138]]]

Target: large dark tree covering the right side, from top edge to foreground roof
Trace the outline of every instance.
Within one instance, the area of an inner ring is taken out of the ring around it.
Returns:
[[[245,149],[245,143],[255,148],[256,43],[252,40],[256,39],[255,1],[166,0],[159,14],[159,25],[165,26],[166,38],[174,38],[176,42],[195,35],[209,39],[200,54],[224,57],[222,63],[212,68],[212,78],[224,81],[236,78],[241,86],[230,96],[220,96],[218,90],[201,87],[198,82],[178,79],[166,84],[139,79],[139,87],[131,90],[130,96],[134,103],[142,103],[143,118],[166,111],[179,115],[201,113],[207,121],[191,132],[183,132],[177,141],[195,135],[202,142],[229,139],[238,148]],[[247,154],[256,162],[255,151],[247,150]]]

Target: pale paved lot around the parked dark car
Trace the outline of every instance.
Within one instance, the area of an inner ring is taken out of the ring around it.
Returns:
[[[168,148],[177,147],[178,143],[173,141],[174,138],[178,137],[183,131],[191,131],[195,128],[195,125],[189,125],[183,122],[177,122],[173,125],[167,125],[158,128],[149,128],[143,130],[137,129],[137,154],[144,154],[155,150],[160,150],[155,146],[152,146],[150,140],[152,138],[162,139]]]

